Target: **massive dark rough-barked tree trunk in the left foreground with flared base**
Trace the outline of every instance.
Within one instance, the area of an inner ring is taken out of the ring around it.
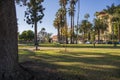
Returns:
[[[30,80],[29,73],[18,64],[14,0],[1,0],[0,10],[0,80]]]

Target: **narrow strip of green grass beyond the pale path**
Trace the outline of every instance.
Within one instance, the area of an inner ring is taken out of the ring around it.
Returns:
[[[19,45],[24,47],[25,44]],[[26,44],[26,46],[33,46],[33,44]],[[39,44],[40,47],[68,47],[68,48],[93,48],[93,44]],[[114,48],[114,44],[95,44],[95,48]],[[120,48],[120,44],[117,44],[116,48]]]

